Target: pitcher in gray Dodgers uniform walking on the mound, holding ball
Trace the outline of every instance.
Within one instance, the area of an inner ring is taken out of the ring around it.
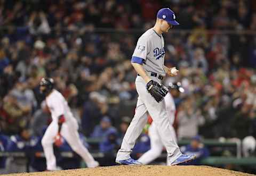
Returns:
[[[167,68],[164,65],[165,50],[162,36],[162,33],[168,32],[173,26],[179,24],[175,19],[174,12],[169,8],[159,10],[155,26],[142,34],[132,55],[132,66],[138,73],[135,86],[139,97],[135,115],[116,156],[116,163],[118,164],[141,164],[141,162],[133,160],[130,154],[135,140],[147,123],[148,113],[153,119],[167,150],[170,165],[177,165],[194,158],[194,155],[181,154],[180,148],[173,137],[165,102],[162,101],[168,92],[162,86],[163,77],[165,77],[165,74],[169,76],[178,74],[177,69]]]

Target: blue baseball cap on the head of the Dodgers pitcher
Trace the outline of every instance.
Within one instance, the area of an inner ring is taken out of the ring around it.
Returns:
[[[163,20],[167,21],[168,23],[170,23],[172,25],[179,25],[180,24],[175,20],[176,16],[175,16],[174,12],[169,8],[160,9],[157,12],[156,16],[157,16],[157,18],[163,19]]]

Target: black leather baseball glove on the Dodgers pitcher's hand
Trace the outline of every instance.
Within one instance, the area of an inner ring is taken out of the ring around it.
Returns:
[[[147,83],[146,88],[148,93],[150,93],[158,103],[161,102],[168,93],[168,90],[164,86],[159,85],[158,82],[153,80]]]

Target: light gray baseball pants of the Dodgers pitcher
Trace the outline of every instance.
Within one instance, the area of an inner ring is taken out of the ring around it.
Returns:
[[[151,79],[161,83],[156,77],[151,77]],[[135,85],[139,94],[137,107],[132,122],[125,133],[121,149],[118,150],[116,161],[126,160],[130,157],[135,140],[139,137],[143,127],[145,127],[149,113],[167,150],[168,160],[172,163],[181,155],[181,152],[173,137],[172,125],[167,118],[165,101],[156,102],[147,92],[146,82],[142,77],[137,76]]]

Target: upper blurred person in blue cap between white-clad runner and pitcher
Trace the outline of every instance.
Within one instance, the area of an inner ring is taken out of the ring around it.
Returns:
[[[116,128],[111,125],[111,121],[108,116],[103,116],[99,125],[94,128],[91,137],[105,138],[110,131],[116,131]]]

